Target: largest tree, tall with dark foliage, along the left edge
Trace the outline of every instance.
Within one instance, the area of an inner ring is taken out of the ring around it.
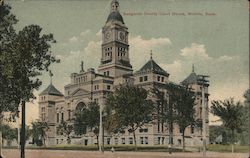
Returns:
[[[38,25],[26,26],[17,33],[13,27],[17,19],[10,13],[10,7],[3,3],[0,7],[0,113],[10,111],[16,115],[21,102],[21,158],[24,158],[25,103],[35,98],[33,90],[41,85],[37,77],[58,61],[50,52],[55,40],[52,34],[41,35]]]

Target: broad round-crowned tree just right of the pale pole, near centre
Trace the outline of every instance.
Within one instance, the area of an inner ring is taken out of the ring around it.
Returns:
[[[152,120],[153,103],[147,97],[148,92],[143,88],[121,85],[108,96],[106,102],[106,105],[115,111],[116,129],[122,131],[126,128],[133,133],[135,150],[135,131]]]

